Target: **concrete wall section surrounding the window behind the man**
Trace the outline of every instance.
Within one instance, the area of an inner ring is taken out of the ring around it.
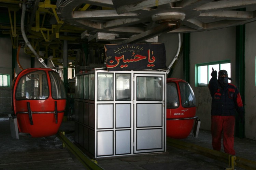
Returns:
[[[197,101],[197,116],[201,120],[201,129],[211,127],[211,95],[208,87],[195,87],[195,65],[229,59],[231,76],[235,75],[236,29],[190,33],[190,85]],[[235,79],[235,78],[234,78]],[[231,83],[234,83],[232,81]]]

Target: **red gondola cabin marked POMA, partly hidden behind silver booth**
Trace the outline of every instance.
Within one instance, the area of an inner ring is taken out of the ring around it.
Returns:
[[[196,98],[190,85],[181,79],[168,78],[166,86],[166,134],[175,139],[186,138],[194,125]]]

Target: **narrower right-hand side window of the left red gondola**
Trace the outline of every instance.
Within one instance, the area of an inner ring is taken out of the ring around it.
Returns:
[[[66,90],[59,74],[55,71],[49,71],[52,87],[53,99],[66,99]]]

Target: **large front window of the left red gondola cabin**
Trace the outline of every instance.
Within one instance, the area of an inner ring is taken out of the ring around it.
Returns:
[[[38,100],[48,97],[49,87],[44,71],[34,71],[19,79],[16,90],[16,100]]]

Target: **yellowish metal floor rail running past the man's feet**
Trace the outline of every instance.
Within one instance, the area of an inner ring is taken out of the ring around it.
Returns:
[[[253,160],[245,159],[245,158],[242,158],[239,156],[233,156],[233,155],[219,152],[219,151],[209,149],[209,148],[204,148],[204,147],[195,145],[193,143],[188,143],[188,142],[184,142],[182,140],[176,140],[176,139],[167,137],[167,144],[177,147],[177,148],[180,148],[180,149],[192,151],[192,152],[201,154],[203,156],[219,160],[224,163],[227,163],[227,164],[229,164],[229,168],[227,168],[227,170],[234,169],[234,166],[244,168],[247,170],[256,169],[256,162]]]

